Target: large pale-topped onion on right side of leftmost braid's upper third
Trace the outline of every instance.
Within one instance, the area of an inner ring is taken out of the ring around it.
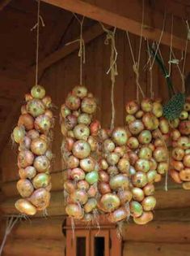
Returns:
[[[48,115],[40,115],[36,118],[34,125],[37,131],[47,133],[49,132],[52,123]]]

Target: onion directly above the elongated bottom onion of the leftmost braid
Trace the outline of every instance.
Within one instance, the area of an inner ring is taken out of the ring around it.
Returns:
[[[16,187],[22,197],[30,197],[34,191],[32,183],[30,180],[26,179],[19,180],[16,184]]]

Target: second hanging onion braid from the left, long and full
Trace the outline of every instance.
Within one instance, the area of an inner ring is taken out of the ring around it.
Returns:
[[[96,107],[95,98],[82,85],[74,87],[61,106],[65,211],[74,219],[91,220],[96,214],[100,128],[99,121],[93,119]]]

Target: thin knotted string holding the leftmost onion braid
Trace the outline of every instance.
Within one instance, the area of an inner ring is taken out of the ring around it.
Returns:
[[[39,37],[40,37],[40,22],[42,27],[44,27],[44,20],[40,16],[40,0],[38,0],[38,11],[37,11],[37,23],[31,28],[31,31],[37,28],[36,30],[36,79],[35,84],[38,84],[38,63],[39,63]]]

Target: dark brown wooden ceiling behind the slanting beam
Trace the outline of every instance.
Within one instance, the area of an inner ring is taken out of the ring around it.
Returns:
[[[53,6],[53,3],[66,6],[68,2],[71,5],[74,2],[98,3],[104,8],[107,5],[110,6],[111,2],[124,3],[125,0],[42,0],[40,15],[43,17],[45,27],[40,28],[40,75],[49,65],[57,62],[66,54],[70,54],[78,47],[70,46],[66,50],[64,47],[66,42],[78,37],[78,21],[74,19],[74,15],[70,11]],[[137,16],[136,21],[140,22],[141,15],[138,15],[138,11],[141,10],[141,1],[126,0],[125,5],[127,2],[129,6],[131,5],[131,9],[128,9]],[[148,10],[148,13],[151,14],[148,15],[147,22],[149,20],[154,21],[154,17],[163,17],[167,3],[168,15],[172,12],[175,16],[175,28],[178,28],[176,35],[179,37],[181,34],[183,37],[184,33],[182,29],[179,29],[179,24],[183,22],[182,18],[190,20],[189,0],[145,0],[145,3],[146,11]],[[68,3],[68,5],[70,4]],[[137,11],[133,10],[135,4],[138,5]],[[31,29],[36,24],[36,11],[36,0],[0,0],[0,152],[10,136],[23,92],[27,90],[28,74],[33,71],[32,67],[35,66],[36,30],[31,31]],[[122,10],[118,9],[117,11]],[[180,21],[179,24],[178,20]],[[73,29],[74,27],[75,29]],[[162,23],[159,24],[158,29],[161,28]],[[166,28],[168,33],[170,29],[169,20]],[[91,41],[101,33],[101,28],[97,22],[85,20],[85,41]]]

